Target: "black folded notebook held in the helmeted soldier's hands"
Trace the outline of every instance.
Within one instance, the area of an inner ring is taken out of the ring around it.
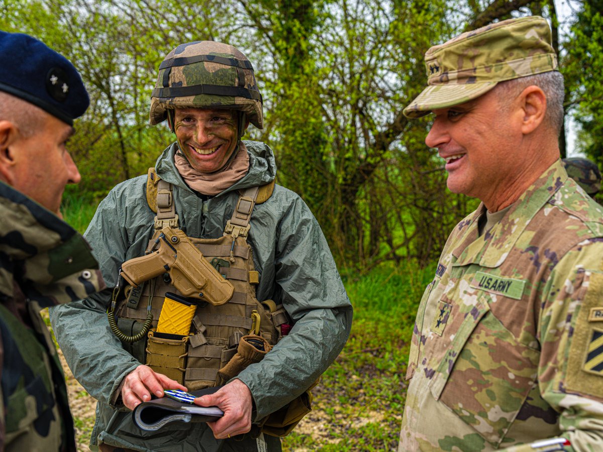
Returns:
[[[205,394],[213,394],[221,386],[215,388],[199,389],[191,391],[195,397]],[[134,424],[142,430],[159,430],[168,422],[212,422],[221,418],[224,412],[216,406],[201,407],[195,404],[182,403],[169,397],[156,398],[139,404],[132,416]]]

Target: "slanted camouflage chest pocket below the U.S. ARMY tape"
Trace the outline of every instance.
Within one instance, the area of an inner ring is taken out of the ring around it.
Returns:
[[[535,383],[538,357],[539,352],[517,341],[480,297],[465,314],[431,391],[496,447]]]

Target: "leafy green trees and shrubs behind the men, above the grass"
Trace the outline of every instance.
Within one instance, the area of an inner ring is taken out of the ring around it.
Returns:
[[[561,67],[579,146],[603,166],[601,1],[584,2],[560,39],[572,43]],[[200,39],[240,48],[266,117],[265,130],[247,137],[274,149],[277,181],[305,199],[339,267],[354,272],[408,258],[426,265],[476,206],[447,191],[443,162],[423,141],[429,118],[402,115],[426,84],[426,49],[519,14],[557,23],[549,0],[0,0],[0,8],[0,28],[39,37],[81,71],[91,106],[70,149],[80,193],[96,201],[144,174],[174,138],[148,125],[163,56]]]

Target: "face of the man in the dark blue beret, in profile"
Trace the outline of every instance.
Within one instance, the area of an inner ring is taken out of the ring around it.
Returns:
[[[7,142],[5,179],[15,189],[61,216],[59,208],[66,184],[77,184],[80,172],[66,144],[74,129],[48,113],[39,111],[39,129],[30,137],[18,132]],[[6,122],[5,122],[6,124]]]

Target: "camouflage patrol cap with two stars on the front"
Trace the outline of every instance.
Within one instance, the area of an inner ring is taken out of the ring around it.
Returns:
[[[403,111],[420,118],[487,93],[497,83],[557,71],[551,28],[543,17],[529,16],[486,25],[425,53],[428,87]]]

